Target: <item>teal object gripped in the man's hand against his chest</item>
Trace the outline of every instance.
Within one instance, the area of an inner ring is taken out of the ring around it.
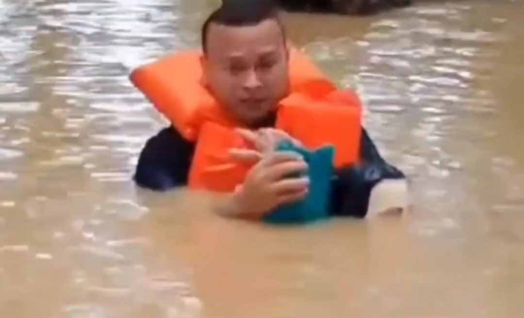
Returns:
[[[264,217],[268,223],[307,223],[326,218],[330,210],[331,178],[335,148],[326,146],[316,151],[296,147],[289,141],[277,146],[280,151],[295,151],[308,163],[309,193],[299,202],[279,207]],[[298,176],[290,176],[298,177]]]

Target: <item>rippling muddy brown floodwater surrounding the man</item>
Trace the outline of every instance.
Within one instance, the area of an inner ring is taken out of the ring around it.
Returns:
[[[271,227],[130,180],[166,125],[127,80],[216,1],[0,1],[0,316],[521,317],[524,4],[292,14],[407,172],[401,217]]]

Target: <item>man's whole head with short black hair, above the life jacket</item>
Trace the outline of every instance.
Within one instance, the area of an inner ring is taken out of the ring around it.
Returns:
[[[270,0],[224,0],[202,28],[204,82],[244,125],[256,127],[288,94],[289,51]]]

